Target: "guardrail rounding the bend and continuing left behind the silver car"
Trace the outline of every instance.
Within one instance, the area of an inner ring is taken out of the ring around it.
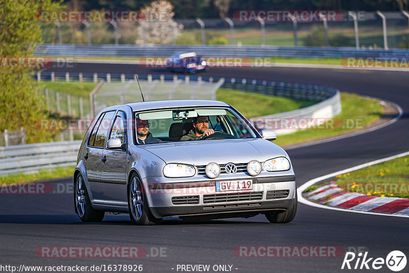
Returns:
[[[51,73],[42,73],[39,77],[40,79],[50,79]],[[55,73],[54,77],[65,78],[65,73]],[[71,77],[79,78],[79,74],[70,74],[69,78]],[[105,79],[105,77],[105,74],[97,75],[98,80]],[[110,74],[111,80],[126,80],[133,79],[133,77],[133,74],[126,74],[124,76],[121,76],[121,74]],[[190,81],[219,81],[222,79],[202,76],[177,76],[177,78],[181,79],[186,79],[185,77],[189,77]],[[155,79],[173,80],[173,75],[139,75],[139,78],[151,81]],[[84,73],[82,79],[94,80],[94,74]],[[248,93],[320,101],[306,108],[251,119],[256,128],[259,127],[258,129],[263,129],[264,124],[262,124],[262,121],[266,118],[331,118],[341,111],[339,91],[324,86],[227,78],[224,79],[222,87],[233,88]],[[281,134],[289,132],[288,130],[277,131]],[[0,147],[0,175],[4,176],[19,171],[35,172],[42,168],[75,165],[80,144],[81,141],[63,141]]]

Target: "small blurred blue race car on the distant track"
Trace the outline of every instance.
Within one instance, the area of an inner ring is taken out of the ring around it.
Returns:
[[[170,72],[182,72],[193,74],[209,71],[209,65],[203,57],[195,52],[177,53],[170,56],[166,61],[166,67]]]

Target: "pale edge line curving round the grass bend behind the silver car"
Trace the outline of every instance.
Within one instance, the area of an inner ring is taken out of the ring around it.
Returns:
[[[304,143],[304,144],[298,144],[298,145],[294,145],[294,146],[289,146],[289,147],[285,148],[285,150],[292,150],[292,149],[297,149],[297,148],[302,148],[302,147],[317,145],[317,144],[321,144],[321,143],[326,143],[326,142],[330,142],[330,141],[335,141],[335,140],[341,140],[341,139],[346,139],[346,138],[355,137],[355,135],[364,134],[364,133],[369,133],[369,132],[372,132],[372,131],[381,129],[381,128],[383,128],[383,127],[386,127],[386,126],[388,126],[388,125],[391,125],[392,123],[397,122],[397,121],[402,117],[402,115],[403,115],[403,110],[402,110],[402,108],[401,108],[398,104],[396,104],[396,103],[394,103],[394,102],[391,102],[391,101],[381,100],[381,99],[377,99],[377,98],[373,98],[373,97],[369,97],[369,98],[376,99],[376,100],[379,100],[379,101],[381,101],[381,102],[386,102],[386,103],[391,104],[393,107],[395,107],[395,108],[398,110],[398,112],[399,112],[399,113],[398,113],[398,116],[396,116],[393,120],[390,120],[390,121],[388,121],[388,122],[379,124],[379,125],[377,125],[377,126],[374,126],[374,127],[371,127],[371,128],[365,129],[365,130],[362,130],[362,131],[353,132],[353,133],[347,133],[347,134],[343,134],[343,135],[338,135],[337,137],[332,137],[332,138],[325,139],[325,140],[319,140],[319,141],[313,141],[313,142],[310,142],[310,143]]]

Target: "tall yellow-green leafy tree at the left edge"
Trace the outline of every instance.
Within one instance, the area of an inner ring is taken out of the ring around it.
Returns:
[[[44,100],[38,96],[33,81],[33,68],[11,68],[11,58],[32,57],[36,44],[41,43],[36,12],[58,10],[51,0],[0,0],[0,130],[26,128],[27,142],[49,140],[49,131],[38,130],[39,120],[47,118]],[[26,59],[27,60],[27,59]]]

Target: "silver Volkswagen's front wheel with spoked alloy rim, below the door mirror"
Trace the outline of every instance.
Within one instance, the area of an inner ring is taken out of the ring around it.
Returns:
[[[162,221],[150,212],[142,181],[136,173],[129,180],[128,209],[129,218],[138,225],[153,225]]]

